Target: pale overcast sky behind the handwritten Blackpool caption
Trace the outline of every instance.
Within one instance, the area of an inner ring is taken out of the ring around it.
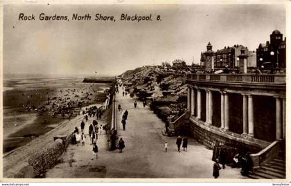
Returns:
[[[19,21],[19,13],[35,21]],[[39,14],[91,15],[91,21],[39,21]],[[94,21],[114,15],[116,22]],[[150,15],[153,21],[119,21]],[[161,15],[161,21],[155,21]],[[33,5],[4,6],[4,73],[119,75],[139,66],[184,59],[200,62],[210,41],[213,50],[243,44],[256,50],[273,30],[285,37],[282,5]]]

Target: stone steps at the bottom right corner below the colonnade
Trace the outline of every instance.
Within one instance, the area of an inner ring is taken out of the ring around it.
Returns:
[[[283,158],[274,158],[254,169],[249,178],[254,179],[283,179],[286,178],[286,162]]]

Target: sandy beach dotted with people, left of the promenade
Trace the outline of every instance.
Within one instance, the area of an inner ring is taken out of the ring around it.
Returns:
[[[26,145],[90,104],[104,103],[107,84],[85,84],[82,78],[4,80],[3,153]]]

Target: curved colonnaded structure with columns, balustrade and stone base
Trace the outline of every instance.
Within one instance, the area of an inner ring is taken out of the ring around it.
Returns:
[[[207,147],[258,153],[285,140],[285,75],[188,74],[186,82],[191,133]]]

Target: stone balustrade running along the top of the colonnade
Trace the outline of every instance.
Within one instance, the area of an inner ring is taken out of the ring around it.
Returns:
[[[277,83],[286,82],[285,74],[187,74],[187,80],[213,81],[213,82],[254,82]]]

